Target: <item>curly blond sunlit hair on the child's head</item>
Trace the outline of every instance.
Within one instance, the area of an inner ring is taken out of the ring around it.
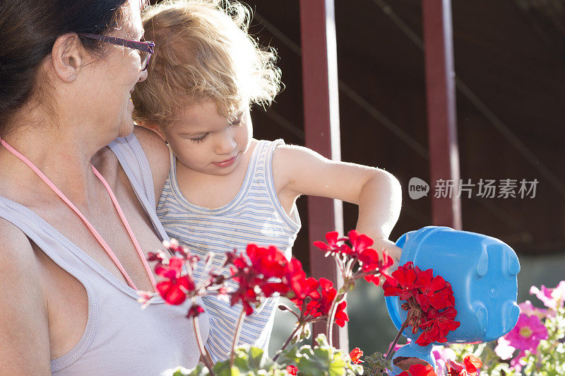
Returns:
[[[145,40],[155,42],[147,80],[132,99],[133,118],[166,128],[186,107],[212,100],[234,119],[280,90],[273,49],[247,33],[249,9],[234,1],[173,0],[145,10]]]

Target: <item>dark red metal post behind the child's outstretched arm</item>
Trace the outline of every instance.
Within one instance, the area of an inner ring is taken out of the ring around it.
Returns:
[[[338,53],[335,42],[333,0],[300,0],[302,40],[302,86],[304,89],[304,136],[306,146],[326,158],[340,160],[340,119],[338,102]],[[341,201],[308,197],[310,245],[323,240],[328,231],[343,233]],[[333,259],[310,248],[310,271],[314,278],[328,278],[334,286],[341,276]],[[326,331],[314,324],[314,338]],[[347,350],[347,327],[333,327],[333,345]]]

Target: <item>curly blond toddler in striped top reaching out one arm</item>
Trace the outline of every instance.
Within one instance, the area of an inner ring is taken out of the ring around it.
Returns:
[[[206,259],[209,252],[275,245],[290,258],[300,229],[295,201],[302,194],[359,205],[357,230],[395,259],[388,240],[400,212],[400,184],[388,172],[336,162],[282,140],[253,138],[250,105],[268,105],[280,88],[275,54],[247,33],[239,3],[167,1],[143,16],[155,41],[148,78],[136,85],[133,117],[169,145],[171,168],[157,213],[165,230]],[[333,230],[328,228],[329,230]],[[222,257],[215,259],[215,266]],[[197,270],[196,278],[206,278]],[[207,348],[229,356],[241,305],[203,298],[210,315]],[[276,298],[245,318],[240,343],[266,347]]]

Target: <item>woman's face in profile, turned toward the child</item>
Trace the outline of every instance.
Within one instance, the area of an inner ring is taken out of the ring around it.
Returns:
[[[140,11],[139,1],[126,2],[119,30],[112,30],[109,35],[141,40],[143,26]],[[88,72],[90,93],[86,93],[86,100],[90,102],[90,117],[95,119],[91,127],[96,127],[98,131],[102,131],[100,127],[104,127],[105,131],[112,131],[113,139],[116,136],[127,136],[133,131],[131,93],[136,83],[147,78],[147,72],[141,70],[141,57],[136,49],[109,43],[104,43],[103,47],[105,54],[95,61],[92,71]]]

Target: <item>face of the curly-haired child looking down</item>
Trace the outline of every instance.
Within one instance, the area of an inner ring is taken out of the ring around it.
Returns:
[[[218,114],[215,102],[187,107],[162,132],[180,163],[210,175],[228,175],[249,148],[252,129],[249,110],[232,124]]]

